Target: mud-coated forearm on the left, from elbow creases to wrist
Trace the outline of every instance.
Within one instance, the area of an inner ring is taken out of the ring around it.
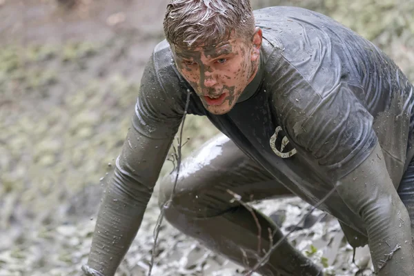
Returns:
[[[152,192],[146,186],[128,183],[124,177],[116,168],[103,196],[92,238],[88,266],[105,276],[115,274],[128,251]]]

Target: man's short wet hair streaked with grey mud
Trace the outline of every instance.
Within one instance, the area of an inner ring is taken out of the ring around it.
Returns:
[[[255,18],[250,0],[171,0],[164,17],[164,34],[174,46],[214,46],[235,33],[250,40]]]

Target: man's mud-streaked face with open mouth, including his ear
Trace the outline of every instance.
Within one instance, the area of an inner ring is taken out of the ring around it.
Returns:
[[[204,107],[222,115],[235,106],[253,80],[259,64],[262,30],[251,41],[232,35],[216,46],[173,48],[181,75],[199,95]]]

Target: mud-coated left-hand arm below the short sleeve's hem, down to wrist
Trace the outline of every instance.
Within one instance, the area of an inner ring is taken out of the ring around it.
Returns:
[[[128,130],[92,238],[88,266],[101,273],[97,275],[114,275],[128,251],[169,146],[170,141],[148,139],[135,128]],[[148,164],[153,167],[148,168]]]

